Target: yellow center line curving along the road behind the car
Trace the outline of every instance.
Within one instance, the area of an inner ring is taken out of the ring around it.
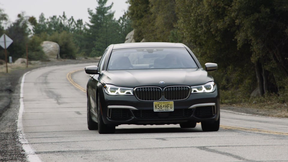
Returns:
[[[80,71],[83,69],[79,69],[79,70],[73,70],[69,73],[67,73],[67,79],[69,80],[69,82],[74,85],[76,88],[80,89],[81,91],[86,93],[86,89],[81,87],[79,84],[77,84],[76,82],[73,81],[71,75],[77,71]],[[267,130],[261,130],[261,129],[256,129],[256,128],[243,128],[243,127],[232,127],[232,126],[226,126],[226,125],[220,125],[220,128],[223,129],[233,129],[233,130],[241,130],[241,131],[253,131],[253,132],[261,132],[261,133],[268,133],[268,134],[277,134],[277,135],[288,135],[288,133],[285,132],[277,132],[277,131],[267,131]]]

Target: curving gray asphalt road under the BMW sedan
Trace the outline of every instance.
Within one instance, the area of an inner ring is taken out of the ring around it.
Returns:
[[[89,131],[84,67],[33,70],[23,77],[19,138],[28,161],[288,161],[288,119],[221,111],[220,130],[120,125]]]

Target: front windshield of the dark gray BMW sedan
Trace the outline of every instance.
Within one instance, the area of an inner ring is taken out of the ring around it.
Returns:
[[[198,68],[185,48],[114,49],[108,70]]]

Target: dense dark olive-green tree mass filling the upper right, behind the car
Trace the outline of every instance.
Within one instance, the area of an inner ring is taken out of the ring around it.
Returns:
[[[223,104],[287,102],[288,1],[128,2],[136,41],[182,42],[202,65],[218,64]],[[250,98],[255,89],[260,99]]]

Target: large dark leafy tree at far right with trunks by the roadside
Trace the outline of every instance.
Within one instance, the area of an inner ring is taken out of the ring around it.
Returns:
[[[263,95],[286,86],[287,1],[176,0],[176,8],[184,43],[221,64],[221,89],[245,89],[249,96],[256,87]]]

